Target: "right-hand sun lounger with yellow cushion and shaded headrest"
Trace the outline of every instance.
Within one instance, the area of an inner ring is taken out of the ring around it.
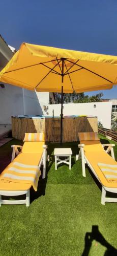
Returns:
[[[117,202],[117,198],[106,197],[106,191],[117,193],[117,181],[108,181],[100,168],[100,163],[106,165],[117,165],[114,160],[114,144],[101,144],[97,133],[78,133],[80,144],[79,154],[76,160],[82,161],[82,175],[85,177],[85,164],[87,164],[102,185],[101,204],[105,202]],[[104,147],[107,147],[104,150]],[[111,156],[108,155],[111,153]],[[116,176],[117,178],[117,176]]]

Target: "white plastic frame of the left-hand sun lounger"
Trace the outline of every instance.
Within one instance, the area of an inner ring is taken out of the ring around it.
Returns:
[[[18,156],[20,152],[18,151],[18,148],[22,148],[20,145],[12,145],[13,152],[12,152],[12,159],[11,162],[14,160],[15,155]],[[39,167],[43,165],[43,173],[42,173],[42,179],[46,176],[46,160],[49,161],[49,156],[47,156],[47,145],[43,145],[43,155],[39,163]],[[25,195],[26,198],[24,200],[3,200],[2,196],[20,196]],[[0,190],[0,206],[1,204],[26,204],[26,206],[30,206],[30,189],[28,190]]]

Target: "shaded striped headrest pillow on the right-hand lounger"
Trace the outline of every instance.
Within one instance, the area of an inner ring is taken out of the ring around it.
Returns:
[[[79,140],[100,140],[98,133],[78,133]]]

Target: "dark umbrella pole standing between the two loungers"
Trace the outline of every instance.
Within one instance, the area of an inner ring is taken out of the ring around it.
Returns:
[[[63,141],[63,82],[64,82],[64,58],[62,58],[62,96],[61,96],[61,144]]]

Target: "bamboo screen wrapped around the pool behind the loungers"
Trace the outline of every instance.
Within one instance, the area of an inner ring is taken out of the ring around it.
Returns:
[[[12,117],[13,138],[23,140],[25,133],[45,133],[45,140],[60,142],[60,118],[19,118]],[[54,130],[54,132],[53,132]],[[63,119],[63,142],[77,141],[78,132],[98,132],[97,117]],[[53,138],[54,137],[54,138]]]

